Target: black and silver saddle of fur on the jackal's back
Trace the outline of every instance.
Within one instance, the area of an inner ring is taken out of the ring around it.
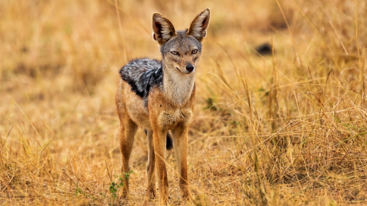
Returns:
[[[120,69],[121,79],[131,86],[131,90],[145,100],[149,89],[163,82],[162,62],[157,59],[133,59]]]

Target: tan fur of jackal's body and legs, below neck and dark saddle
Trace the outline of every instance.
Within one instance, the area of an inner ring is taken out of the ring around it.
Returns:
[[[161,202],[168,202],[168,179],[164,158],[166,157],[166,133],[171,130],[174,136],[175,156],[180,177],[179,186],[183,198],[191,199],[187,179],[187,132],[192,122],[192,111],[195,106],[195,85],[188,99],[185,102],[177,103],[167,98],[157,88],[153,88],[148,97],[148,113],[143,101],[139,100],[126,82],[120,80],[116,92],[116,105],[120,118],[120,151],[123,161],[121,171],[124,173],[130,171],[130,154],[137,124],[150,128],[148,130],[148,191],[152,198],[156,197],[154,177],[156,166]],[[128,185],[128,179],[124,180],[123,195],[125,197],[128,195]]]

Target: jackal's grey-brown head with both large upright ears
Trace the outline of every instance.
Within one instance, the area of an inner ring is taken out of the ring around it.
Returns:
[[[186,74],[195,70],[209,18],[207,8],[194,18],[188,29],[176,31],[170,20],[153,13],[153,39],[160,45],[165,69]]]

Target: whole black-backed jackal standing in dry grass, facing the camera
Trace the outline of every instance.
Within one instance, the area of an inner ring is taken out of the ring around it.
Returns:
[[[189,28],[176,31],[163,15],[153,13],[153,39],[158,42],[162,60],[134,59],[120,70],[116,91],[120,119],[121,172],[130,171],[129,160],[138,126],[148,136],[148,194],[155,198],[155,167],[158,175],[160,204],[168,203],[166,149],[173,146],[178,165],[182,198],[192,199],[188,183],[188,128],[195,106],[195,72],[201,54],[201,41],[206,36],[210,9],[197,15]],[[128,195],[128,179],[123,195]]]

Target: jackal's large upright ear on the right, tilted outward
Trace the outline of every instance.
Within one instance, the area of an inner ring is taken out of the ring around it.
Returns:
[[[210,9],[207,8],[195,17],[186,34],[194,36],[199,41],[203,41],[203,38],[206,36],[206,30],[209,26],[209,18]]]

